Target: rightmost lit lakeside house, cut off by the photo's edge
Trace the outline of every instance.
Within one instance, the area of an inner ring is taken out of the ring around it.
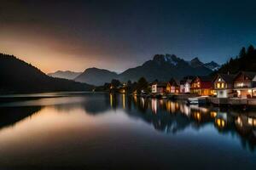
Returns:
[[[239,98],[255,98],[256,72],[239,72],[234,79],[234,90]]]

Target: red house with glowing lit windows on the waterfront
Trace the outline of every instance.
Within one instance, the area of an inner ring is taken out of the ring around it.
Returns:
[[[207,96],[213,95],[214,90],[212,88],[212,78],[195,77],[191,82],[190,93]]]

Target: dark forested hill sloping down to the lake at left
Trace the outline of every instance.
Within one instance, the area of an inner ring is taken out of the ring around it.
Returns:
[[[91,85],[49,77],[13,55],[0,54],[0,93],[85,91]]]

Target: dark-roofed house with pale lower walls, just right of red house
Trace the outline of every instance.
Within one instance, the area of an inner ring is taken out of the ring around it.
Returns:
[[[217,93],[218,98],[233,97],[234,78],[232,74],[218,74],[212,81],[213,89]]]

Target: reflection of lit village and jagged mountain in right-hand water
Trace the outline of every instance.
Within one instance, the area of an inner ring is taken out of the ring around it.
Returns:
[[[125,103],[126,98],[122,99]],[[256,111],[232,111],[212,106],[186,105],[169,99],[133,97],[132,100],[136,111],[125,110],[127,114],[143,119],[160,132],[178,133],[187,127],[198,131],[210,123],[218,133],[238,134],[244,148],[255,150]]]

